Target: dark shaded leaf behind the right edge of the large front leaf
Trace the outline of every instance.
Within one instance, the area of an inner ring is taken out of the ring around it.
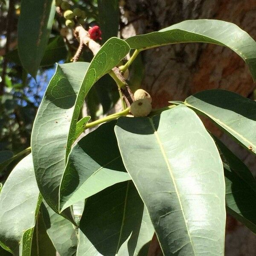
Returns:
[[[256,180],[247,166],[214,137],[224,166],[227,212],[256,233]]]

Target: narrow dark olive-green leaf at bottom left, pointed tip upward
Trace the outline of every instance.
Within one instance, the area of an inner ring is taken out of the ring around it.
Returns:
[[[38,213],[33,233],[31,256],[56,256],[55,247],[46,232],[41,212]]]

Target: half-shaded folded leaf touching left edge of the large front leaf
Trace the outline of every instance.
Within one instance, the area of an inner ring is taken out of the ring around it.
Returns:
[[[60,186],[60,210],[131,177],[125,171],[114,126],[105,123],[72,148]]]

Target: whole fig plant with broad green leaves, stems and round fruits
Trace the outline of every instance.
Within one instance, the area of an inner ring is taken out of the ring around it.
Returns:
[[[35,8],[38,2],[21,6],[23,67],[35,77],[55,10],[72,27],[79,47],[72,62],[56,65],[34,121],[31,148],[18,157],[31,153],[1,187],[3,253],[147,256],[153,255],[156,237],[165,256],[221,256],[226,211],[256,233],[255,178],[198,116],[206,116],[255,155],[256,102],[226,90],[205,90],[152,109],[149,93],[131,90],[127,80],[140,52],[193,42],[230,48],[255,80],[256,42],[250,35],[221,20],[186,20],[100,45],[104,30],[86,28],[85,20],[79,21],[81,10],[57,0],[56,6],[47,0]],[[35,13],[28,18],[31,9]],[[24,45],[29,26],[35,34]],[[85,49],[93,52],[90,62],[78,61]],[[105,75],[116,83],[123,109],[90,121],[90,116],[81,117],[81,108]],[[95,129],[81,136],[89,128]],[[1,169],[13,159],[17,156],[6,155]]]

